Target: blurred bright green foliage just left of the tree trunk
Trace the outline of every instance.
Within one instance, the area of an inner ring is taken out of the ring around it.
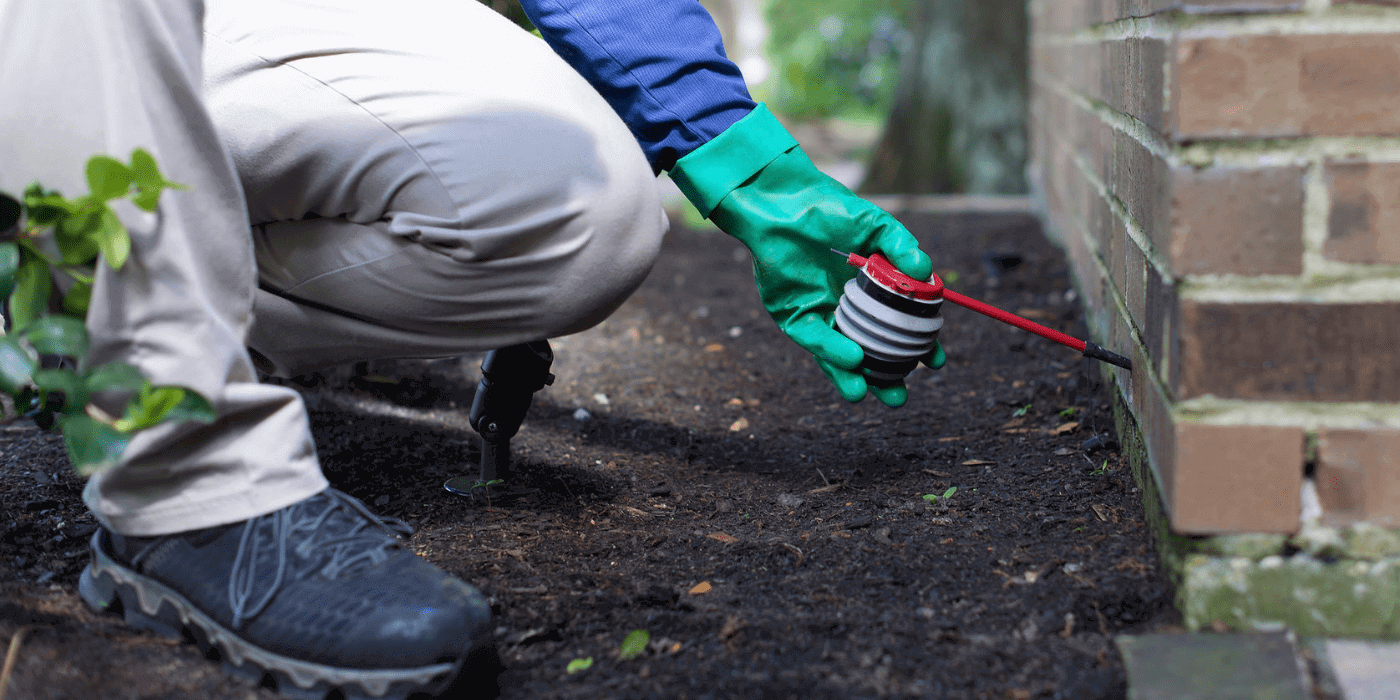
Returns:
[[[771,85],[794,119],[883,119],[910,50],[911,0],[769,0]]]

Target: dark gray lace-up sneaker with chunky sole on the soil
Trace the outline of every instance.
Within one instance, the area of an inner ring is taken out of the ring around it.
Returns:
[[[435,694],[490,643],[491,609],[405,549],[410,532],[335,489],[178,535],[98,529],[78,592],[132,626],[192,637],[284,697]]]

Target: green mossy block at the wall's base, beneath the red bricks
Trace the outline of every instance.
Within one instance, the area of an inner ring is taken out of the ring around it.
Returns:
[[[1400,638],[1400,560],[1333,561],[1308,554],[1189,556],[1179,602],[1191,630],[1289,627],[1302,636]]]

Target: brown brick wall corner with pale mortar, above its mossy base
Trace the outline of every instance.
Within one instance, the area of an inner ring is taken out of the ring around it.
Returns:
[[[1397,6],[1030,0],[1033,186],[1177,532],[1400,526]]]

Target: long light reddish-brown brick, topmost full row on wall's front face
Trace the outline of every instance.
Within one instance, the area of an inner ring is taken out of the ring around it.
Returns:
[[[1179,140],[1400,133],[1396,35],[1184,38],[1175,57]]]

